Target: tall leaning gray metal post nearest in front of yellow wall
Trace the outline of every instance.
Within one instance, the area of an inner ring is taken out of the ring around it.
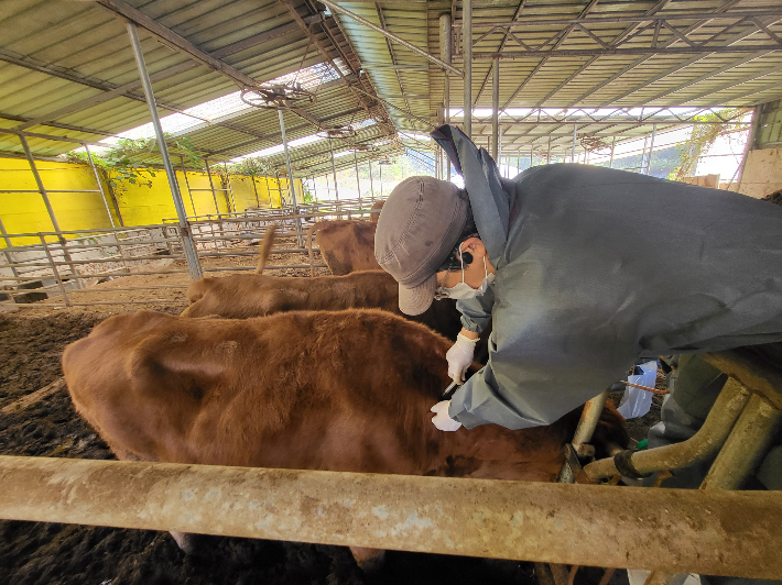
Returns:
[[[152,84],[150,82],[149,75],[146,73],[146,65],[144,64],[144,54],[141,49],[141,42],[139,41],[139,35],[135,31],[135,24],[132,22],[127,23],[128,36],[130,37],[130,44],[133,47],[133,56],[135,57],[135,64],[139,68],[139,76],[141,77],[141,82],[144,88],[144,96],[146,97],[146,104],[150,108],[150,114],[152,117],[152,125],[155,129],[155,136],[158,137],[158,147],[160,148],[161,157],[163,158],[163,166],[165,167],[165,173],[169,178],[169,186],[171,187],[171,195],[174,198],[174,207],[176,208],[176,216],[178,218],[180,227],[180,238],[182,239],[182,249],[187,260],[187,267],[193,280],[198,280],[203,277],[200,269],[200,264],[198,263],[198,252],[195,249],[195,244],[191,238],[189,227],[187,225],[187,213],[185,212],[185,206],[182,201],[182,195],[180,194],[180,185],[176,181],[176,175],[174,174],[174,167],[171,164],[171,158],[169,157],[169,146],[165,143],[165,135],[163,134],[163,128],[160,123],[160,118],[158,117],[158,107],[155,106],[154,93],[152,92]]]

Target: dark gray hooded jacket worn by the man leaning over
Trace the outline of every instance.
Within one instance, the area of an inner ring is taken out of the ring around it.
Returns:
[[[432,135],[497,268],[457,303],[466,329],[493,325],[488,365],[450,401],[465,427],[549,424],[639,357],[782,341],[781,207],[577,164],[506,180],[457,129]]]

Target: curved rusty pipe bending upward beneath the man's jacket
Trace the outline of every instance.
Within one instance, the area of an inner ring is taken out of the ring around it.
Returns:
[[[725,443],[749,397],[750,393],[743,386],[729,378],[703,427],[694,437],[681,443],[632,453],[629,457],[630,464],[638,473],[647,474],[676,470],[708,459]],[[589,463],[584,471],[595,481],[620,473],[615,460],[610,457]]]

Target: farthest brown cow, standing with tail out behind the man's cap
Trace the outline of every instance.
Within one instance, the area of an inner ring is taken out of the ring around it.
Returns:
[[[328,269],[335,276],[356,271],[379,271],[374,260],[374,230],[377,224],[357,220],[324,220],[315,223],[307,231],[309,263],[314,264],[312,238],[317,230],[315,241]],[[311,269],[315,276],[315,268]]]

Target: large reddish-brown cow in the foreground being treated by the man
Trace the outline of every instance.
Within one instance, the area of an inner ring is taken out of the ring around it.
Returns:
[[[432,424],[449,346],[377,310],[142,311],[68,345],[63,372],[78,412],[122,460],[554,481],[577,412],[521,431]],[[612,408],[595,437],[627,442]]]

